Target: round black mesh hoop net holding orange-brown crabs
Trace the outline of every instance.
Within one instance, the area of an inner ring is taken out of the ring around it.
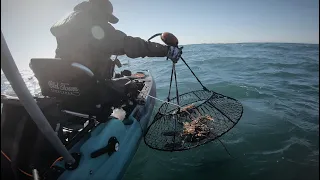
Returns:
[[[144,141],[152,149],[182,151],[211,142],[240,120],[239,101],[214,91],[198,90],[179,95],[180,107],[163,103],[148,127]]]

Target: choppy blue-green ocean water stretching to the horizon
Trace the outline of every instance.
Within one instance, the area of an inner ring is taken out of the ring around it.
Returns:
[[[209,89],[243,104],[243,117],[221,138],[234,158],[216,141],[173,153],[142,141],[124,180],[319,179],[319,45],[187,45],[183,57]],[[124,68],[151,70],[157,96],[166,98],[171,63],[165,58],[131,59]],[[176,69],[180,93],[201,88],[182,62]],[[38,93],[30,70],[22,74]],[[3,74],[1,93],[13,94]]]

